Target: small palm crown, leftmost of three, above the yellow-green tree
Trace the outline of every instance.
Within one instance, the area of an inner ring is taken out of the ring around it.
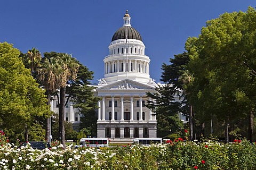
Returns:
[[[30,66],[31,75],[32,75],[33,72],[35,71],[35,68],[40,65],[40,62],[42,60],[42,55],[38,49],[33,47],[32,49],[28,50],[28,53],[26,54],[26,56],[27,56],[27,62]]]

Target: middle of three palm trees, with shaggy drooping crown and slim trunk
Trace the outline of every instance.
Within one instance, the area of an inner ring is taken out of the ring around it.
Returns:
[[[42,81],[47,95],[47,105],[51,103],[51,94],[56,91],[59,81],[60,61],[59,58],[44,58],[41,67],[38,69],[38,79]],[[45,139],[50,140],[50,117],[46,118]]]

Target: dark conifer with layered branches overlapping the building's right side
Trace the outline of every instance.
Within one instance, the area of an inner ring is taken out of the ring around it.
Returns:
[[[161,137],[169,134],[170,131],[173,133],[183,128],[178,113],[188,114],[186,98],[182,92],[183,79],[181,79],[188,61],[187,53],[170,58],[171,64],[162,65],[161,81],[165,84],[157,85],[155,93],[147,93],[147,96],[153,99],[148,101],[147,107],[156,113],[157,133]]]

